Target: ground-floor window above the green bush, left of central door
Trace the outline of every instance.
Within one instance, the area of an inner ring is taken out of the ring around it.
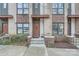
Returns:
[[[22,34],[22,33],[27,33],[28,34],[29,30],[29,24],[17,24],[17,33]]]

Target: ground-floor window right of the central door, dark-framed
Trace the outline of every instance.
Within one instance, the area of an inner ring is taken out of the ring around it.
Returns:
[[[63,35],[64,34],[64,24],[63,23],[53,23],[53,34]]]

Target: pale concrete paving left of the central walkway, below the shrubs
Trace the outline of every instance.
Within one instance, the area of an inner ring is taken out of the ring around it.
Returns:
[[[24,46],[0,45],[0,56],[22,56],[26,50]]]

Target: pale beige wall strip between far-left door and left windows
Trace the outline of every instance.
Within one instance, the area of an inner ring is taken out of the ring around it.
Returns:
[[[16,34],[16,4],[9,3],[8,4],[8,14],[12,15],[12,19],[8,19],[8,33]]]

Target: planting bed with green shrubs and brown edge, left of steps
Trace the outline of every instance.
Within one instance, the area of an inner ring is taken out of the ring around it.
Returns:
[[[11,35],[8,38],[0,39],[0,45],[28,46],[29,43],[26,34]]]

